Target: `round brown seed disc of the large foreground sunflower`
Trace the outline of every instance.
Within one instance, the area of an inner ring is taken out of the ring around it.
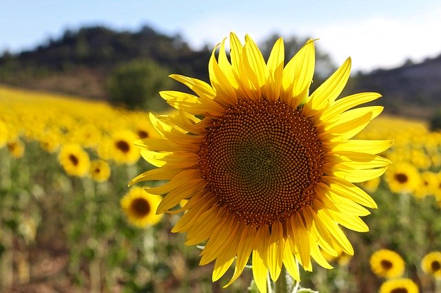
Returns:
[[[230,213],[271,226],[311,203],[325,152],[301,110],[280,100],[239,100],[207,130],[199,165]]]

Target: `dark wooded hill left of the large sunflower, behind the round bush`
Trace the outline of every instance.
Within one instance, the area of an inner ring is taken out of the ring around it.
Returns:
[[[0,57],[0,83],[45,89],[89,98],[106,97],[105,82],[120,64],[154,60],[169,72],[207,76],[211,51],[192,50],[181,36],[167,36],[144,26],[138,32],[105,27],[66,30],[34,50]]]

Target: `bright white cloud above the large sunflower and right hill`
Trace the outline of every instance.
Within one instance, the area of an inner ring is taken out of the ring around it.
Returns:
[[[272,32],[285,36],[311,36],[318,45],[331,54],[336,63],[348,56],[353,59],[353,71],[369,71],[402,65],[407,58],[422,61],[441,53],[441,8],[413,15],[411,18],[365,17],[358,21],[336,20],[329,25],[307,25],[285,19],[262,19],[252,16],[214,15],[187,23],[183,34],[195,47],[220,42],[230,31],[238,36],[249,33],[262,41]],[[294,23],[293,23],[294,22]],[[293,30],[296,28],[296,30]]]

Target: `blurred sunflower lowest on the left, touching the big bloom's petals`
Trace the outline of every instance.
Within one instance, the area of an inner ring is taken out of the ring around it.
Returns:
[[[159,195],[146,193],[144,188],[135,186],[124,195],[120,204],[130,224],[145,228],[161,220],[162,215],[155,214],[160,202]]]

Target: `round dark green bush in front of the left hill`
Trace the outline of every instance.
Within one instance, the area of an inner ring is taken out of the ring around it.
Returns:
[[[165,106],[158,91],[171,87],[167,76],[167,69],[154,61],[123,63],[107,80],[107,94],[116,105],[158,110]]]

